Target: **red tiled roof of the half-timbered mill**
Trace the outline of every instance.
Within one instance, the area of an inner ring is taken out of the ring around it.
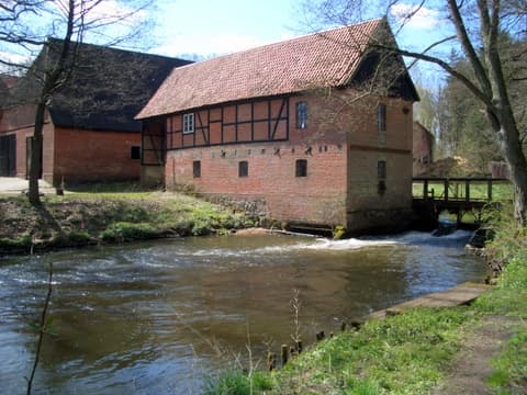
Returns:
[[[346,84],[382,23],[375,19],[176,68],[137,119]]]

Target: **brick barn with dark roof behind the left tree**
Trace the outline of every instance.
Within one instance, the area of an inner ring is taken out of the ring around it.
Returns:
[[[60,47],[49,40],[9,87],[9,98],[2,95],[0,176],[27,176],[35,95],[44,65]],[[138,180],[141,122],[134,116],[175,67],[190,61],[90,44],[75,46],[68,61],[72,72],[47,105],[42,177],[55,185]]]

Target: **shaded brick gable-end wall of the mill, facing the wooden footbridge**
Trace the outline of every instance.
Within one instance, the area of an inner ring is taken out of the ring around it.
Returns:
[[[386,109],[385,131],[378,129],[379,104]],[[363,119],[351,123],[348,135],[348,228],[405,228],[412,217],[412,103],[369,98],[361,109]],[[381,161],[385,174],[379,174]]]

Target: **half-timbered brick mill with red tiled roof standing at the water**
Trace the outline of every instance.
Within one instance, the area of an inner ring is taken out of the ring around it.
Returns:
[[[293,226],[403,227],[417,93],[378,40],[393,40],[385,20],[175,69],[137,116],[142,180],[258,202]]]

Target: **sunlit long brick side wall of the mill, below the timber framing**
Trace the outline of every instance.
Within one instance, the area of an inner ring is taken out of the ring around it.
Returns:
[[[322,150],[319,149],[322,147]],[[274,219],[341,224],[345,222],[346,153],[333,145],[307,147],[259,143],[167,154],[167,188],[193,189],[205,195],[265,199]],[[307,162],[307,176],[295,176],[295,161]],[[193,161],[201,177],[193,177]],[[247,177],[238,177],[238,163],[247,161]]]

